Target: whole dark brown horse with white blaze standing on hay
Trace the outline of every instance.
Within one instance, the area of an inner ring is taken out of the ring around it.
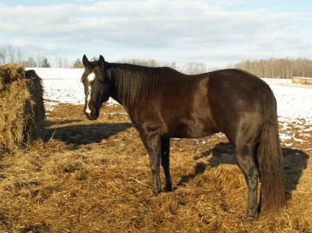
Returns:
[[[277,103],[259,77],[238,69],[185,75],[168,67],[109,63],[102,55],[92,62],[84,55],[83,65],[85,115],[96,120],[110,97],[124,107],[148,151],[153,194],[162,192],[159,164],[166,177],[164,191],[173,190],[170,138],[223,132],[248,186],[248,216],[284,205]]]

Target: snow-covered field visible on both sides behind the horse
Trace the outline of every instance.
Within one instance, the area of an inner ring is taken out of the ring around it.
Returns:
[[[31,69],[31,68],[28,68]],[[64,104],[84,104],[85,94],[80,78],[84,69],[33,68],[42,77],[46,110]],[[291,84],[291,80],[264,79],[277,99],[277,114],[284,130],[296,127],[301,135],[311,137],[312,88]],[[110,100],[114,103],[114,100]],[[281,141],[293,138],[293,133],[281,133]],[[304,142],[303,142],[304,143]]]

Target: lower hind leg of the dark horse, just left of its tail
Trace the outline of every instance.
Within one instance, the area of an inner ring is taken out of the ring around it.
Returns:
[[[257,213],[257,187],[259,178],[259,171],[254,160],[254,143],[236,145],[234,154],[248,186],[247,214],[253,217]]]

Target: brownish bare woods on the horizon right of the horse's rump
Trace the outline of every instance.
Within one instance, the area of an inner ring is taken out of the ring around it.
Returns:
[[[246,60],[231,66],[248,71],[258,77],[291,79],[292,77],[312,77],[312,60],[309,59],[266,59]]]

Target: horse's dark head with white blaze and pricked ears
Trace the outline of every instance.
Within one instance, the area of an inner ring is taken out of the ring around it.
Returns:
[[[101,55],[98,61],[89,62],[83,55],[83,65],[85,66],[85,72],[81,77],[83,86],[85,86],[85,108],[83,111],[89,120],[96,120],[102,103],[110,97],[105,59]]]

